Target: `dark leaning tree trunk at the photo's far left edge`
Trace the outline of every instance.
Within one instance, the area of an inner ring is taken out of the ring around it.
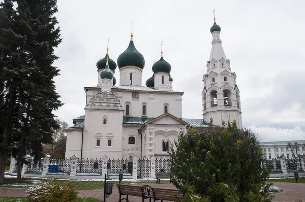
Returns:
[[[4,129],[3,129],[3,136],[0,144],[0,185],[4,183],[4,173],[5,173],[5,165],[6,165],[6,158],[9,151],[9,141],[11,139],[11,120],[14,111],[14,104],[15,104],[16,96],[15,93],[10,94],[10,100],[8,103],[8,108],[6,111],[5,121],[4,121]]]

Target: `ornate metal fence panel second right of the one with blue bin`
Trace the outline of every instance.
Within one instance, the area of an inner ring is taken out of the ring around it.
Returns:
[[[109,159],[107,161],[107,173],[132,173],[132,160]]]

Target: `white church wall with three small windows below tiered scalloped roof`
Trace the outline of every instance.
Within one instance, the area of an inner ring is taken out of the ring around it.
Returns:
[[[103,124],[106,119],[107,123]],[[84,158],[121,158],[123,111],[85,109],[85,128],[87,142],[83,147]],[[100,145],[97,141],[100,140]],[[111,146],[108,146],[108,141]]]

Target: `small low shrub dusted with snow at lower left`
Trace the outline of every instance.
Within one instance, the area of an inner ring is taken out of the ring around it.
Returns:
[[[28,189],[28,201],[76,201],[77,194],[67,182],[48,179]]]

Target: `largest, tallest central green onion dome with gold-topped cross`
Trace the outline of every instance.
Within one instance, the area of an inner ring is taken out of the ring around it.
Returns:
[[[137,66],[143,70],[145,66],[145,60],[143,55],[136,49],[133,43],[133,33],[131,32],[131,39],[129,46],[121,53],[117,58],[118,68],[123,68],[124,66]]]

